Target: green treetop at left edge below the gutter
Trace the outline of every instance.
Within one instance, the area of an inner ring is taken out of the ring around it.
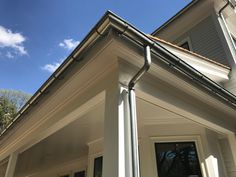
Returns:
[[[0,89],[0,132],[14,119],[31,95],[22,91]]]

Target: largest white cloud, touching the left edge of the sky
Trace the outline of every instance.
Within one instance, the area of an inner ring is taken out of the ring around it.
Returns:
[[[25,37],[20,33],[13,33],[10,29],[0,26],[0,48],[14,49],[16,54],[26,55],[27,51],[23,45]],[[13,55],[12,55],[13,56]]]

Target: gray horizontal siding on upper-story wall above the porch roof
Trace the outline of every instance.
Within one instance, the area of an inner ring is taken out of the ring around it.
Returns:
[[[174,43],[179,43],[187,37],[190,38],[194,52],[227,66],[229,65],[211,16],[181,35]]]

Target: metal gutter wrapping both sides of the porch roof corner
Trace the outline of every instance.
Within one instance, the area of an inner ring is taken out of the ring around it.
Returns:
[[[15,119],[11,124],[0,134],[0,139],[10,131],[14,125],[20,121],[28,111],[30,107],[37,104],[38,100],[43,98],[47,94],[47,90],[58,80],[63,77],[63,72],[73,64],[74,61],[80,62],[83,60],[84,53],[95,45],[99,39],[106,36],[109,31],[113,29],[120,35],[124,35],[130,40],[134,41],[140,46],[149,45],[152,48],[152,55],[158,56],[162,62],[171,67],[181,74],[191,78],[197,83],[203,90],[207,89],[212,91],[216,98],[224,102],[225,104],[236,108],[236,96],[229,91],[222,88],[216,82],[212,81],[201,72],[194,69],[192,66],[181,60],[179,57],[168,51],[161,44],[150,39],[146,34],[139,31],[137,28],[127,23],[122,18],[116,16],[112,12],[108,11],[101,18],[101,20],[92,28],[84,40],[75,48],[75,50],[67,57],[67,59],[61,64],[61,66],[49,77],[49,79],[38,89],[38,91],[31,97],[31,99],[23,106],[18,112]]]

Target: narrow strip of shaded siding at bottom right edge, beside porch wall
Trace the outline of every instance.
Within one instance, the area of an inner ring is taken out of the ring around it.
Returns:
[[[220,147],[228,177],[236,177],[236,168],[234,166],[233,157],[227,139],[220,140]]]

